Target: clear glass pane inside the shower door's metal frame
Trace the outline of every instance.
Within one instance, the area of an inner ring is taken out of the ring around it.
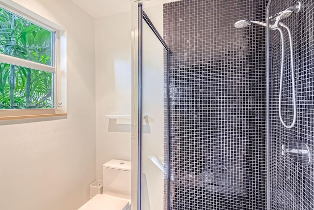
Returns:
[[[164,47],[146,22],[142,40],[142,210],[162,210]]]

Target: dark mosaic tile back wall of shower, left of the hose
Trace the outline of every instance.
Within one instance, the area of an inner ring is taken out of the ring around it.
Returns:
[[[170,210],[266,209],[266,0],[164,4]]]

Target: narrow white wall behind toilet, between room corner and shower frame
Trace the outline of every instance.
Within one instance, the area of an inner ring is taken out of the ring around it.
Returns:
[[[131,13],[95,22],[96,35],[96,171],[110,159],[131,160],[131,120],[105,115],[131,115]],[[109,128],[109,122],[114,128]],[[120,124],[121,123],[121,124]]]

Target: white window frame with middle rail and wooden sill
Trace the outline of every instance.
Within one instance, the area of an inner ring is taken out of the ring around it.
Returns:
[[[66,116],[66,87],[62,86],[61,88],[61,82],[64,85],[64,81],[66,81],[66,30],[12,0],[0,0],[0,8],[18,15],[39,27],[52,31],[52,65],[4,54],[0,54],[0,62],[51,72],[53,84],[52,108],[3,109],[0,110],[0,120]]]

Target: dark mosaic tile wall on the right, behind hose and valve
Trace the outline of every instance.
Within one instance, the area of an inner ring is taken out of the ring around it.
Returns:
[[[281,154],[282,145],[297,149],[307,144],[314,150],[314,0],[303,0],[303,9],[282,22],[292,33],[295,57],[295,88],[297,121],[293,128],[285,128],[278,114],[281,70],[281,39],[278,31],[271,31],[270,55],[270,173],[271,210],[314,209],[314,166],[307,164],[307,155]],[[293,6],[296,0],[272,0],[270,15]],[[293,119],[290,50],[285,34],[285,68],[282,96],[282,114],[287,124]]]

